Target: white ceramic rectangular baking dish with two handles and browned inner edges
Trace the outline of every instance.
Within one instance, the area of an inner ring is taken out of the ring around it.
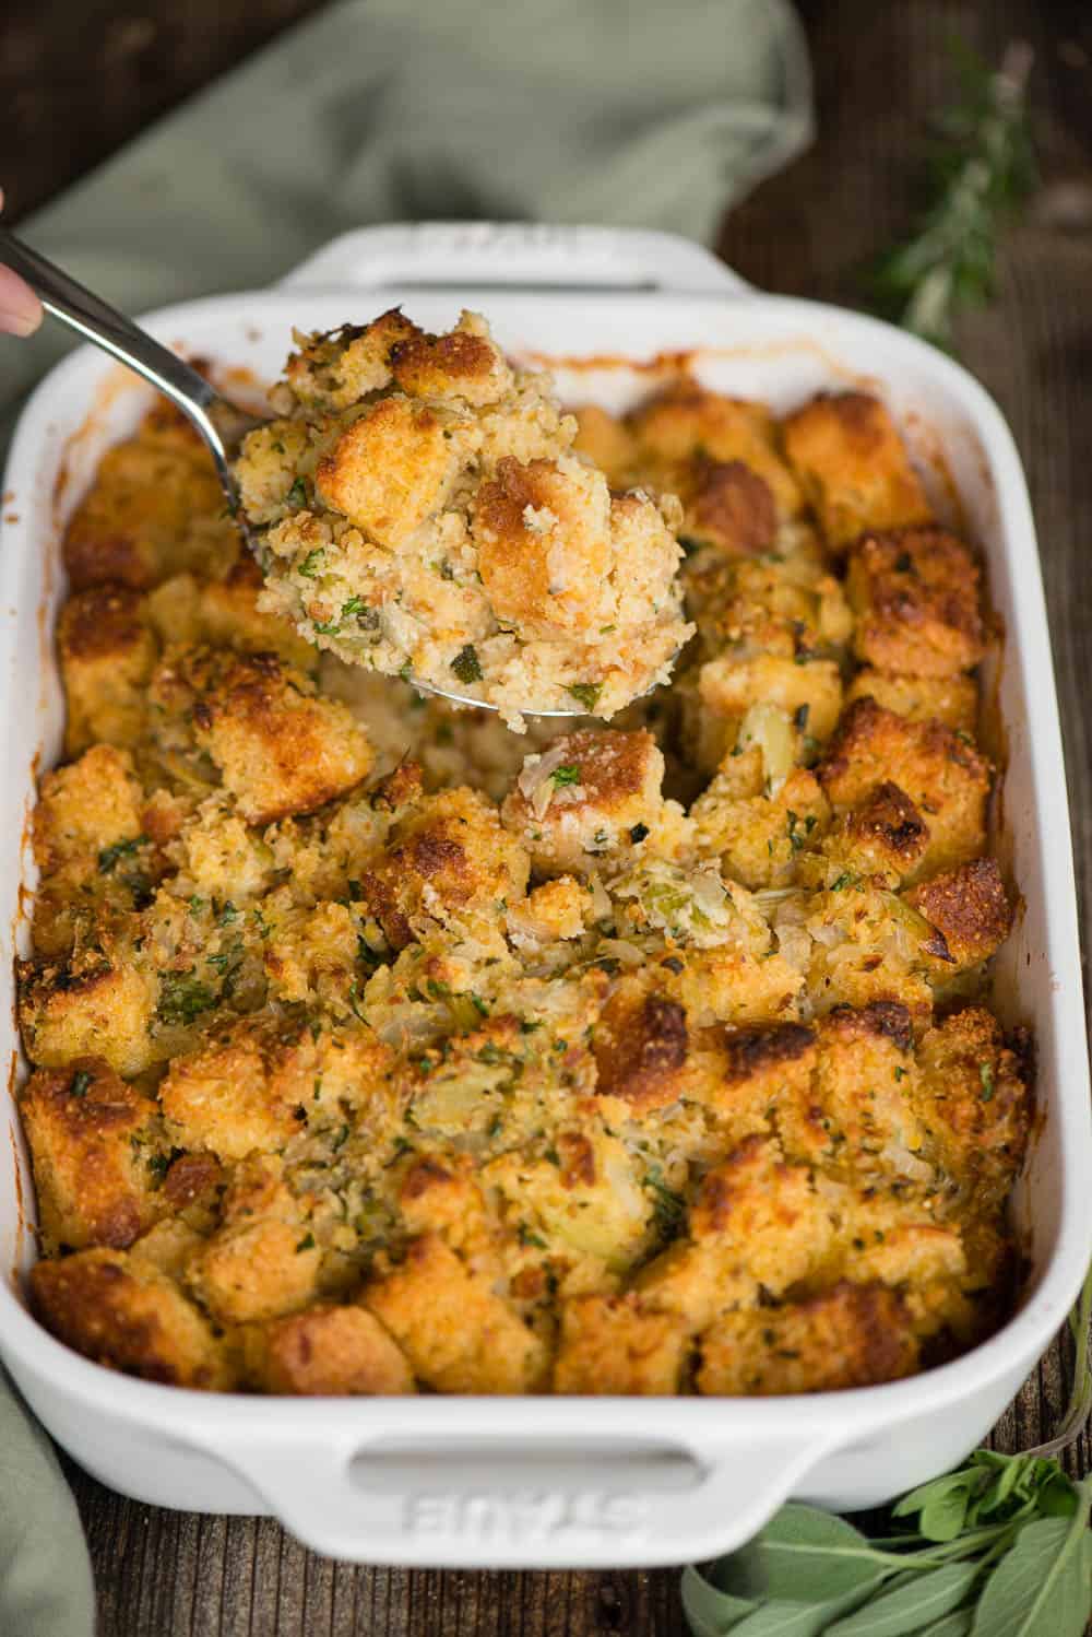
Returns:
[[[286,286],[175,306],[149,326],[268,378],[293,324],[332,327],[399,300],[432,327],[463,304],[479,308],[513,352],[647,360],[700,347],[711,385],[778,406],[863,380],[886,396],[922,465],[935,467],[943,449],[1007,629],[1002,853],[1023,907],[997,961],[996,1003],[1009,1023],[1035,1030],[1043,1110],[1015,1203],[1032,1267],[1020,1311],[992,1341],[914,1380],[786,1400],[302,1401],[155,1387],[87,1362],[29,1318],[20,1282],[33,1260],[33,1190],[11,1107],[0,1152],[0,1257],[11,1269],[0,1285],[0,1354],[49,1431],[105,1483],[163,1506],[268,1511],[345,1558],[649,1567],[734,1547],[790,1495],[835,1508],[884,1501],[982,1437],[1063,1323],[1092,1246],[1066,786],[1035,530],[1009,431],[982,388],[938,352],[835,308],[757,295],[708,252],[654,234],[489,224],[358,232]],[[561,372],[566,396],[608,404],[652,380],[610,363]],[[16,855],[34,768],[60,746],[51,655],[64,593],[59,530],[147,398],[85,349],[38,390],[11,450],[0,565],[5,984],[8,928],[25,933]],[[23,866],[29,881],[26,853]],[[15,1076],[18,1043],[3,1012]]]

